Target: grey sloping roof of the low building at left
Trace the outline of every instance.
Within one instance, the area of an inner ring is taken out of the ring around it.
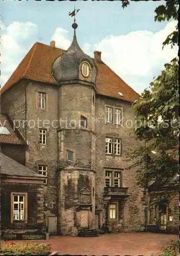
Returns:
[[[39,174],[35,173],[33,170],[21,165],[20,163],[14,161],[13,159],[1,155],[1,173],[5,175],[15,175],[15,176],[37,176],[41,177]]]

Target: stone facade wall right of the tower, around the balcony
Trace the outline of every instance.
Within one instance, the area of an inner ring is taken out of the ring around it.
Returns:
[[[122,108],[123,127],[114,123],[104,124],[105,105]],[[137,145],[137,142],[129,135],[131,131],[130,124],[134,122],[131,104],[118,99],[98,96],[96,97],[96,117],[98,118],[96,122],[96,204],[100,204],[102,208],[104,207],[105,168],[122,168],[122,184],[128,187],[128,194],[130,194],[123,208],[122,231],[140,231],[145,223],[144,206],[141,202],[142,191],[136,185],[136,169],[128,170],[127,167],[131,163],[125,161],[126,150]],[[106,136],[113,136],[122,140],[121,157],[106,155]],[[105,216],[105,211],[103,214]],[[105,222],[105,218],[103,222]]]

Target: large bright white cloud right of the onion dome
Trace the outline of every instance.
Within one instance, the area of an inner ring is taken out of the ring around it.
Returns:
[[[177,56],[177,47],[162,49],[163,41],[176,23],[170,22],[156,33],[133,31],[126,35],[108,36],[90,47],[102,52],[102,60],[124,79],[134,90],[142,92],[154,76],[160,74],[164,64]]]

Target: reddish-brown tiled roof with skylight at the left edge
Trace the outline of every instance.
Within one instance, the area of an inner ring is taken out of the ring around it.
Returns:
[[[0,113],[0,126],[6,127],[9,131],[9,135],[1,134],[1,143],[11,143],[11,144],[23,144],[26,145],[26,140],[18,132],[17,129],[13,129],[13,122],[7,114]]]

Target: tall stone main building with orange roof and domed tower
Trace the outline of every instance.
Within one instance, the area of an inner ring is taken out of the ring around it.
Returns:
[[[139,95],[78,45],[36,42],[2,88],[2,111],[28,141],[26,166],[42,175],[50,233],[111,232],[145,226],[143,191],[126,151]]]

